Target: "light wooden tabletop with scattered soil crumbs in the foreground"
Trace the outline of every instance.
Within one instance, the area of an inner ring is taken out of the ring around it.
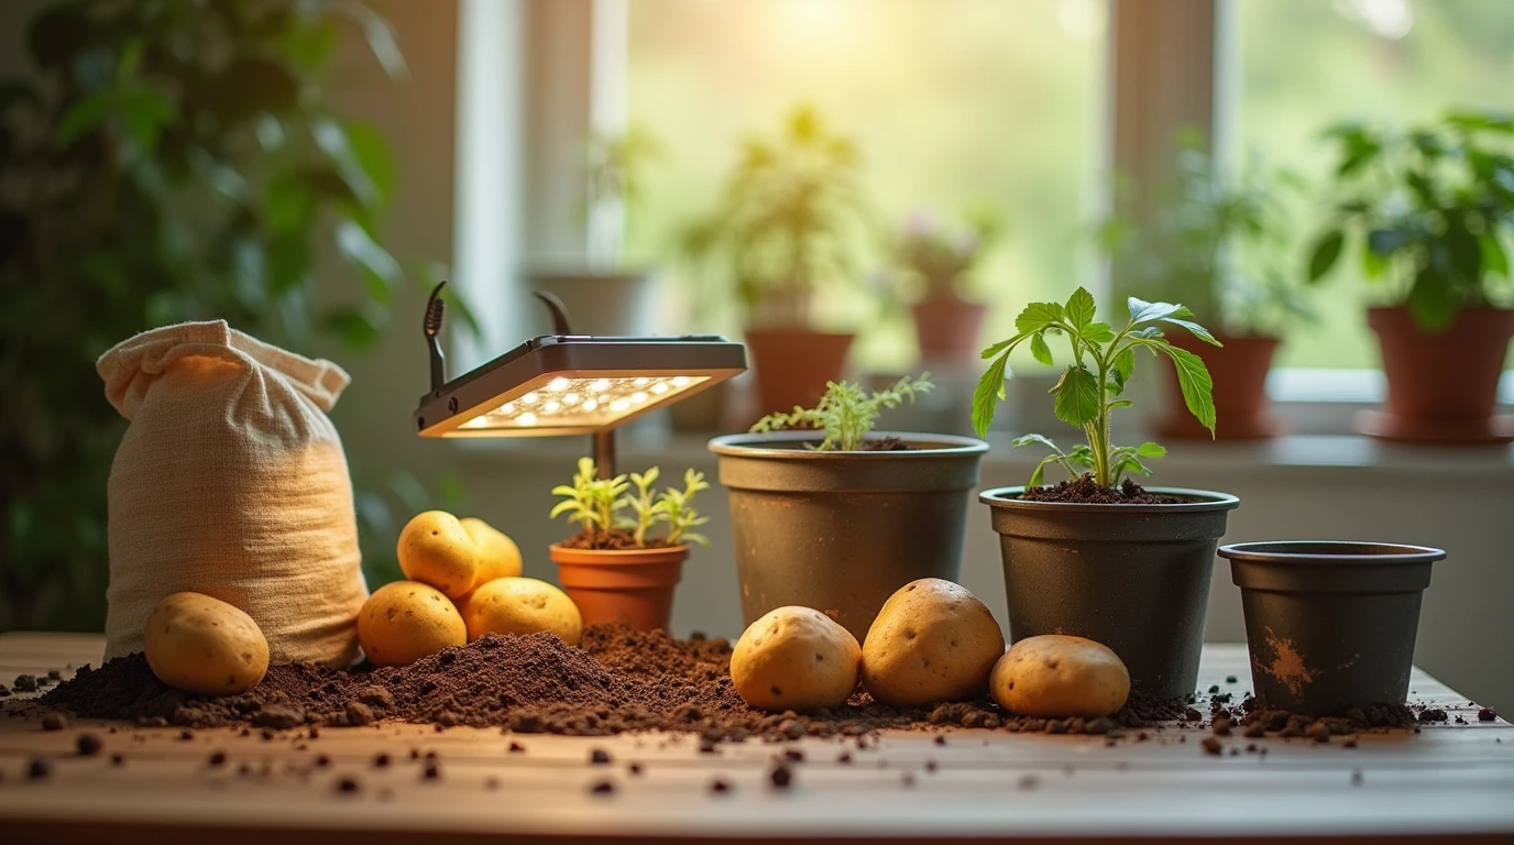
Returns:
[[[3,635],[0,678],[98,663],[101,648],[97,636]],[[1202,689],[1217,683],[1238,698],[1249,677],[1241,647],[1205,648]],[[1217,757],[1199,745],[1207,730],[1176,725],[1113,745],[958,728],[945,745],[887,731],[861,750],[855,739],[749,741],[715,754],[689,734],[403,724],[182,739],[177,728],[109,733],[88,721],[45,731],[18,695],[0,718],[0,842],[1514,840],[1511,725],[1479,722],[1466,698],[1419,669],[1413,689],[1411,701],[1446,707],[1452,722],[1363,734],[1354,748],[1341,737],[1232,736]],[[101,736],[100,754],[74,751],[82,730]],[[510,753],[512,741],[524,751]],[[1252,742],[1258,750],[1245,751]],[[805,760],[780,790],[769,771],[789,748]],[[425,780],[410,750],[435,751],[441,777]],[[612,763],[589,765],[592,750]],[[226,753],[220,766],[215,751]],[[375,766],[380,751],[394,762]],[[26,777],[38,754],[53,759],[39,781]],[[357,789],[341,792],[344,778]],[[731,789],[713,792],[715,780]],[[606,781],[613,792],[592,790]]]

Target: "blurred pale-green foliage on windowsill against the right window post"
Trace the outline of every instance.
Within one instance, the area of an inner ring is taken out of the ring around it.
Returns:
[[[1229,335],[1281,338],[1314,309],[1294,248],[1287,200],[1305,191],[1293,173],[1252,154],[1234,176],[1217,170],[1204,138],[1178,138],[1173,180],[1157,200],[1149,226],[1134,223],[1117,192],[1119,212],[1099,241],[1129,286],[1181,301],[1198,320]]]

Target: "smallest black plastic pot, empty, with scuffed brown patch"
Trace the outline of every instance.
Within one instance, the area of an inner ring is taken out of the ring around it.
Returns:
[[[1246,613],[1264,707],[1329,716],[1402,704],[1420,595],[1446,553],[1381,542],[1243,542],[1220,548]]]

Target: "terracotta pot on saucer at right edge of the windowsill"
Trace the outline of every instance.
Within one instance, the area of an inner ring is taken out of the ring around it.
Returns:
[[[1514,310],[1463,309],[1435,335],[1416,326],[1407,307],[1370,309],[1367,324],[1382,347],[1388,400],[1384,410],[1358,416],[1361,433],[1419,444],[1514,439],[1514,418],[1493,415]]]

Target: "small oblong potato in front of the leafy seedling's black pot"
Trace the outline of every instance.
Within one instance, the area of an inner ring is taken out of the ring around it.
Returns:
[[[1028,636],[1004,653],[989,681],[999,707],[1025,716],[1108,716],[1125,706],[1131,675],[1107,645],[1081,636]]]

